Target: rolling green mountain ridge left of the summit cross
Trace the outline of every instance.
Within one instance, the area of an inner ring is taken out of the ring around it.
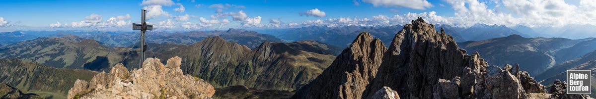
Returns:
[[[88,69],[104,71],[109,66],[123,62],[123,58],[138,56],[136,50],[125,47],[105,47],[93,39],[75,35],[39,37],[0,47],[0,58],[21,59],[55,68]],[[134,60],[126,60],[131,62]],[[138,61],[136,61],[138,62]],[[127,63],[128,64],[128,63]],[[138,64],[138,63],[136,63]]]

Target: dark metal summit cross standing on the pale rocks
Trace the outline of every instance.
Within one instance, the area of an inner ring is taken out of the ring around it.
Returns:
[[[141,63],[139,63],[139,68],[142,68],[143,60],[145,59],[145,51],[147,50],[147,45],[145,45],[145,31],[153,30],[153,25],[147,25],[147,23],[145,23],[146,12],[147,10],[141,9],[142,24],[132,24],[132,30],[141,30]]]

